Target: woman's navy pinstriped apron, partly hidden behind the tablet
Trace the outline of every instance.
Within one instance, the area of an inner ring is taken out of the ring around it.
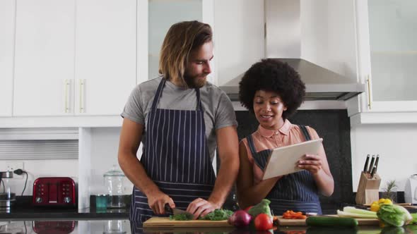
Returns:
[[[299,125],[305,140],[311,140],[310,133],[304,125]],[[271,149],[257,152],[252,140],[252,135],[246,137],[254,163],[262,170],[265,169]],[[322,214],[318,189],[314,178],[309,171],[298,171],[283,176],[274,185],[266,199],[271,201],[269,206],[275,215],[282,215],[287,210],[314,212]]]

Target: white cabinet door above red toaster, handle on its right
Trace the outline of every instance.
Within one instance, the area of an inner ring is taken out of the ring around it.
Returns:
[[[13,116],[69,115],[75,0],[16,2]]]

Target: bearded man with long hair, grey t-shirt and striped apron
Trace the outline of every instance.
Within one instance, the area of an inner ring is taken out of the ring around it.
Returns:
[[[207,81],[210,25],[170,27],[160,51],[160,77],[136,86],[124,111],[119,165],[134,184],[130,219],[140,226],[167,216],[165,205],[194,218],[223,206],[239,168],[235,111],[225,92]],[[141,160],[136,158],[143,144]],[[212,161],[218,152],[216,176]]]

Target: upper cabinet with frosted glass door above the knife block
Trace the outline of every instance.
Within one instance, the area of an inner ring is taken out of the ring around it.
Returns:
[[[360,112],[417,111],[417,2],[356,1],[356,18]]]

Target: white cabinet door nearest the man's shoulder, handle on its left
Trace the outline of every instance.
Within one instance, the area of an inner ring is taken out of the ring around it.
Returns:
[[[122,113],[136,85],[136,0],[77,1],[76,115]]]

